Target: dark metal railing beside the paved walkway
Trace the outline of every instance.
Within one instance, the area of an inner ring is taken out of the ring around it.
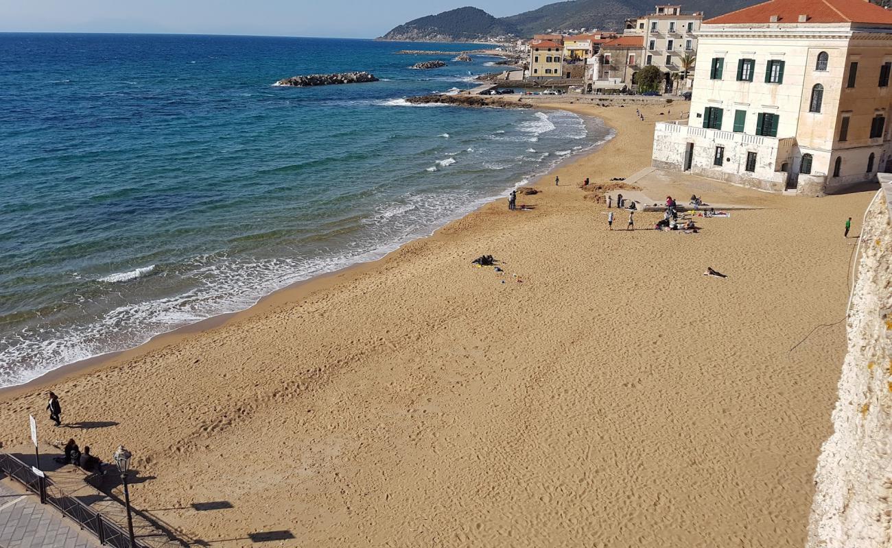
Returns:
[[[103,516],[102,512],[95,511],[77,498],[66,494],[62,487],[57,486],[50,478],[41,478],[28,464],[21,462],[11,454],[0,453],[0,472],[15,479],[31,493],[40,496],[41,503],[54,506],[62,512],[66,518],[78,524],[78,527],[95,535],[101,544],[113,548],[131,548],[128,532],[120,528],[111,519]],[[168,539],[159,544],[159,539],[151,542],[137,538],[132,548],[157,548],[159,545],[181,546],[175,540]]]

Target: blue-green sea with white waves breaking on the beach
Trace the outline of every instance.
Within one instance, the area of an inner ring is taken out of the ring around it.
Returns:
[[[499,58],[396,52],[480,47],[0,34],[0,387],[381,258],[612,136],[405,101]],[[274,86],[349,70],[381,81]]]

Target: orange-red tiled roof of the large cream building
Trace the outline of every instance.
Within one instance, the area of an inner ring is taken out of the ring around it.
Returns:
[[[798,23],[807,15],[807,23],[884,23],[892,24],[892,12],[866,0],[769,0],[736,12],[703,21],[709,25],[735,23]]]

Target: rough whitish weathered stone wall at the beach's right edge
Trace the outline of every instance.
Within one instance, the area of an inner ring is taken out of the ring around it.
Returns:
[[[886,200],[874,201],[862,228],[848,354],[834,431],[814,474],[807,548],[892,546],[892,223]]]

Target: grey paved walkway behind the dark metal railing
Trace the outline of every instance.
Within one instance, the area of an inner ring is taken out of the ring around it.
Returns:
[[[99,548],[99,540],[37,495],[5,476],[0,479],[0,547]]]

